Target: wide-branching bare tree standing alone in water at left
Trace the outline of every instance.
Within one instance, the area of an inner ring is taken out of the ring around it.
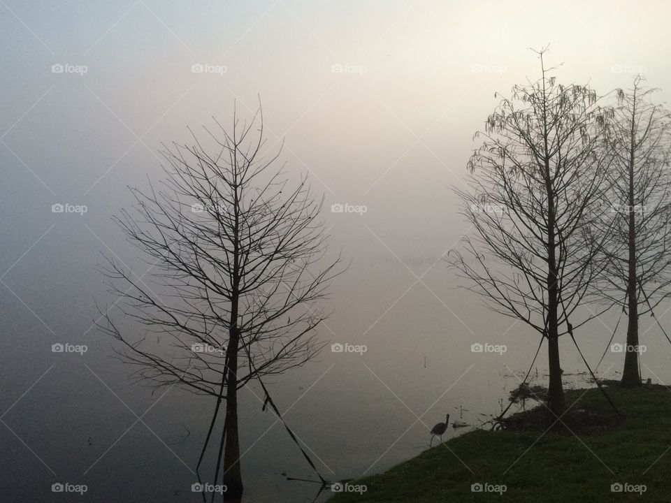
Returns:
[[[103,312],[99,327],[122,343],[140,381],[215,398],[203,453],[226,402],[215,483],[221,473],[224,497],[235,499],[243,491],[237,391],[321,349],[315,328],[326,314],[317,304],[339,258],[325,256],[323,199],[305,178],[290,188],[271,169],[279,152],[262,155],[261,108],[249,124],[233,115],[230,131],[216,124],[216,134],[205,129],[209,148],[195,135],[193,145],[165,147],[159,190],[131,189],[136,205],[116,221],[152,267],[140,280],[107,258],[111,291],[136,323],[123,328]],[[157,341],[138,338],[138,325]]]

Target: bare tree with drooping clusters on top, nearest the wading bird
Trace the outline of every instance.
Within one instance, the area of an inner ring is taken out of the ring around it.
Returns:
[[[475,232],[449,261],[486,305],[547,340],[547,404],[561,414],[558,338],[588,321],[570,319],[598,272],[591,224],[605,182],[605,111],[589,87],[557,84],[544,52],[541,78],[514,86],[475,134],[484,141],[468,163],[470,187],[456,190]]]

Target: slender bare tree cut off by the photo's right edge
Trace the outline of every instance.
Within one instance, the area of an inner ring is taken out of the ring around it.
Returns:
[[[614,224],[605,247],[600,291],[628,311],[622,384],[641,384],[639,316],[669,296],[671,285],[671,116],[654,103],[637,76],[617,93],[605,140],[612,155],[609,212]]]

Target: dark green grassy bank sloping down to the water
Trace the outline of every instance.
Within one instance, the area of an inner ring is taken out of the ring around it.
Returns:
[[[475,430],[383,474],[352,481],[366,484],[366,493],[338,493],[329,503],[671,502],[671,450],[665,453],[671,447],[671,392],[663,386],[606,389],[626,416],[616,430],[579,439],[554,432],[541,437],[542,430]],[[568,391],[566,399],[573,408],[612,411],[596,388]],[[472,493],[476,482],[505,484],[507,490]],[[612,493],[616,482],[645,484],[647,491]]]

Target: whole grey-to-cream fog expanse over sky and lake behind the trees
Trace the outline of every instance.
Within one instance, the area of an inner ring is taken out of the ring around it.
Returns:
[[[161,180],[161,145],[191,142],[187,127],[205,135],[234,109],[250,119],[260,100],[264,150],[283,143],[290,183],[307,175],[324,194],[329,247],[349,265],[324,302],[328,345],[270,384],[280,410],[295,403],[287,423],[335,479],[417,455],[426,425],[460,406],[472,425],[498,413],[519,384],[513,373],[531,365],[537,335],[456,289],[445,262],[468,230],[452,187],[463,187],[473,133],[495,92],[539,78],[529,48],[550,43],[558,80],[601,95],[635,73],[661,101],[671,92],[671,6],[661,1],[4,0],[0,12],[0,491],[17,497],[22,486],[31,500],[66,480],[99,502],[117,490],[127,501],[191,497],[213,403],[132,384],[94,327],[96,305],[116,300],[96,272],[101,253],[147,270],[111,217],[131,205],[127,187]],[[617,316],[577,333],[591,364]],[[655,349],[643,362],[667,379],[668,343],[652,319],[642,323]],[[475,342],[508,351],[470,353]],[[52,353],[56,343],[87,352]],[[332,353],[333,343],[367,351]],[[586,371],[570,340],[561,353],[567,374]],[[541,351],[540,374],[546,360]],[[620,367],[608,354],[600,372]],[[310,501],[312,487],[287,488],[282,473],[314,474],[252,391],[262,396],[251,385],[240,404],[249,494]]]

